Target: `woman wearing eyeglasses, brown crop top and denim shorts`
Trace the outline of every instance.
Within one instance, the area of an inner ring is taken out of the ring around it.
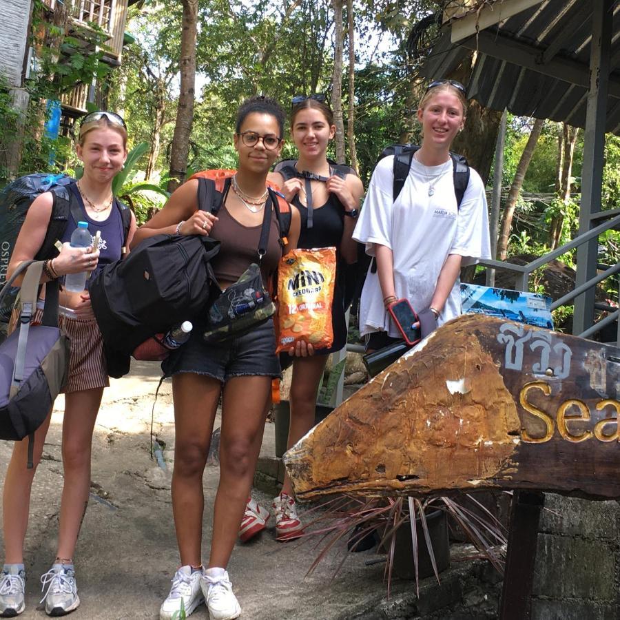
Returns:
[[[260,240],[267,205],[278,208],[267,191],[269,168],[280,155],[284,112],[276,101],[254,96],[237,113],[234,145],[238,169],[224,186],[223,204],[217,216],[198,209],[198,180],[181,185],[163,209],[136,232],[135,243],[154,234],[209,235],[220,241],[211,260],[222,289],[234,284],[252,262]],[[296,247],[299,214],[291,207],[286,245],[271,209],[267,253],[260,261],[262,280],[273,279],[282,254]],[[192,613],[203,601],[211,620],[240,615],[226,570],[245,511],[265,426],[271,380],[280,377],[273,321],[225,342],[203,340],[204,326],[196,320],[189,341],[164,362],[172,375],[174,398],[174,471],[172,510],[180,552],[180,568],[162,603],[159,617]],[[218,401],[222,397],[220,435],[220,482],[213,516],[209,558],[202,561],[203,473],[209,453]]]

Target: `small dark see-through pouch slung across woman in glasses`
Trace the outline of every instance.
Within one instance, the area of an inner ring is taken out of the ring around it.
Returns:
[[[272,206],[269,192],[258,242],[258,265],[251,263],[234,285],[222,291],[211,304],[207,313],[207,329],[203,334],[206,342],[222,342],[247,333],[276,312],[276,304],[265,289],[260,274],[260,261],[267,252],[269,242]]]

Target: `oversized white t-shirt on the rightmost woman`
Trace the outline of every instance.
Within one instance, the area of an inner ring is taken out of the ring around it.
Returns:
[[[366,244],[370,256],[375,255],[375,243],[391,248],[396,297],[409,299],[415,311],[422,311],[431,304],[449,254],[460,254],[463,266],[490,258],[484,184],[470,168],[469,183],[457,209],[452,160],[424,167],[414,158],[394,201],[393,161],[393,156],[384,157],[375,167],[353,238]],[[428,196],[431,182],[435,194]],[[439,324],[461,313],[459,284],[457,279]],[[373,331],[402,337],[384,309],[378,274],[369,269],[360,300],[360,333]]]

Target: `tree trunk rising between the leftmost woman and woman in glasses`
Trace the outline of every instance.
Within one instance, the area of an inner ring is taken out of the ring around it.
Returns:
[[[181,34],[180,94],[176,125],[170,149],[170,180],[168,192],[185,181],[189,136],[194,119],[194,90],[196,87],[196,32],[198,23],[198,0],[183,0],[183,32]]]

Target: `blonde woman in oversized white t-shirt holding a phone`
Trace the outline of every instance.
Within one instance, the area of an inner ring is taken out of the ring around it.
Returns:
[[[360,301],[360,333],[366,350],[402,338],[389,307],[406,298],[415,311],[429,309],[442,324],[461,313],[459,271],[490,258],[484,183],[470,169],[460,207],[454,190],[449,149],[465,123],[467,100],[462,84],[434,81],[417,119],[422,145],[413,156],[402,191],[393,200],[393,156],[375,167],[353,238],[374,256]]]

